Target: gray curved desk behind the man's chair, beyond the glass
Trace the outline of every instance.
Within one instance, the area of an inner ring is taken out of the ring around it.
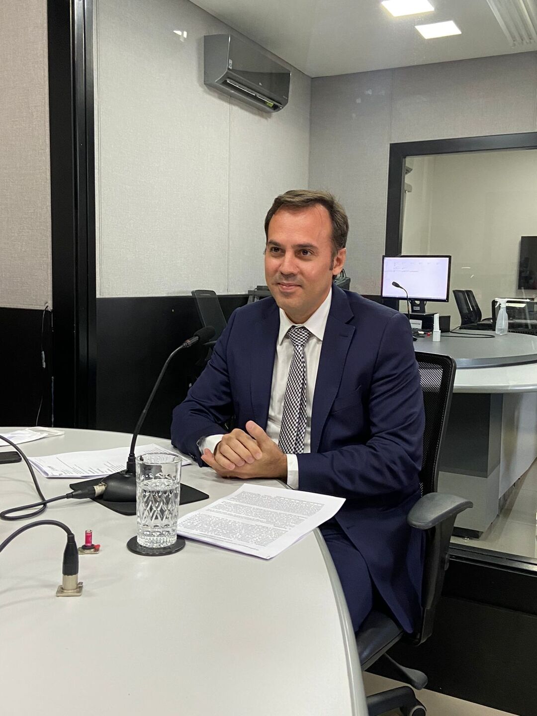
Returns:
[[[455,522],[468,536],[490,526],[503,495],[537,458],[537,337],[483,335],[414,343],[457,362],[438,488],[473,501]]]

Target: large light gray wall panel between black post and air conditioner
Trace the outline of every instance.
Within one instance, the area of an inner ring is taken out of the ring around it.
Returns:
[[[128,6],[98,4],[97,295],[178,294],[202,266],[226,291],[229,108],[198,72],[221,24],[189,3]]]

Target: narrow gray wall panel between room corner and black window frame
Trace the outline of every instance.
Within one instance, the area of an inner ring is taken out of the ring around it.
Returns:
[[[345,270],[364,294],[378,288],[391,92],[391,70],[312,81],[309,183],[332,191],[349,214]]]

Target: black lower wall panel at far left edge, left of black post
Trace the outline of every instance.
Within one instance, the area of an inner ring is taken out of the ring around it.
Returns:
[[[0,425],[35,425],[39,402],[39,425],[52,424],[51,314],[37,309],[0,308],[2,392]]]

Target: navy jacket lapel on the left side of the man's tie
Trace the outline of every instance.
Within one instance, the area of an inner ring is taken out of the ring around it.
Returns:
[[[274,299],[266,301],[266,311],[261,321],[253,327],[251,335],[250,376],[253,420],[266,428],[269,419],[272,372],[276,341],[280,329],[280,315]]]

